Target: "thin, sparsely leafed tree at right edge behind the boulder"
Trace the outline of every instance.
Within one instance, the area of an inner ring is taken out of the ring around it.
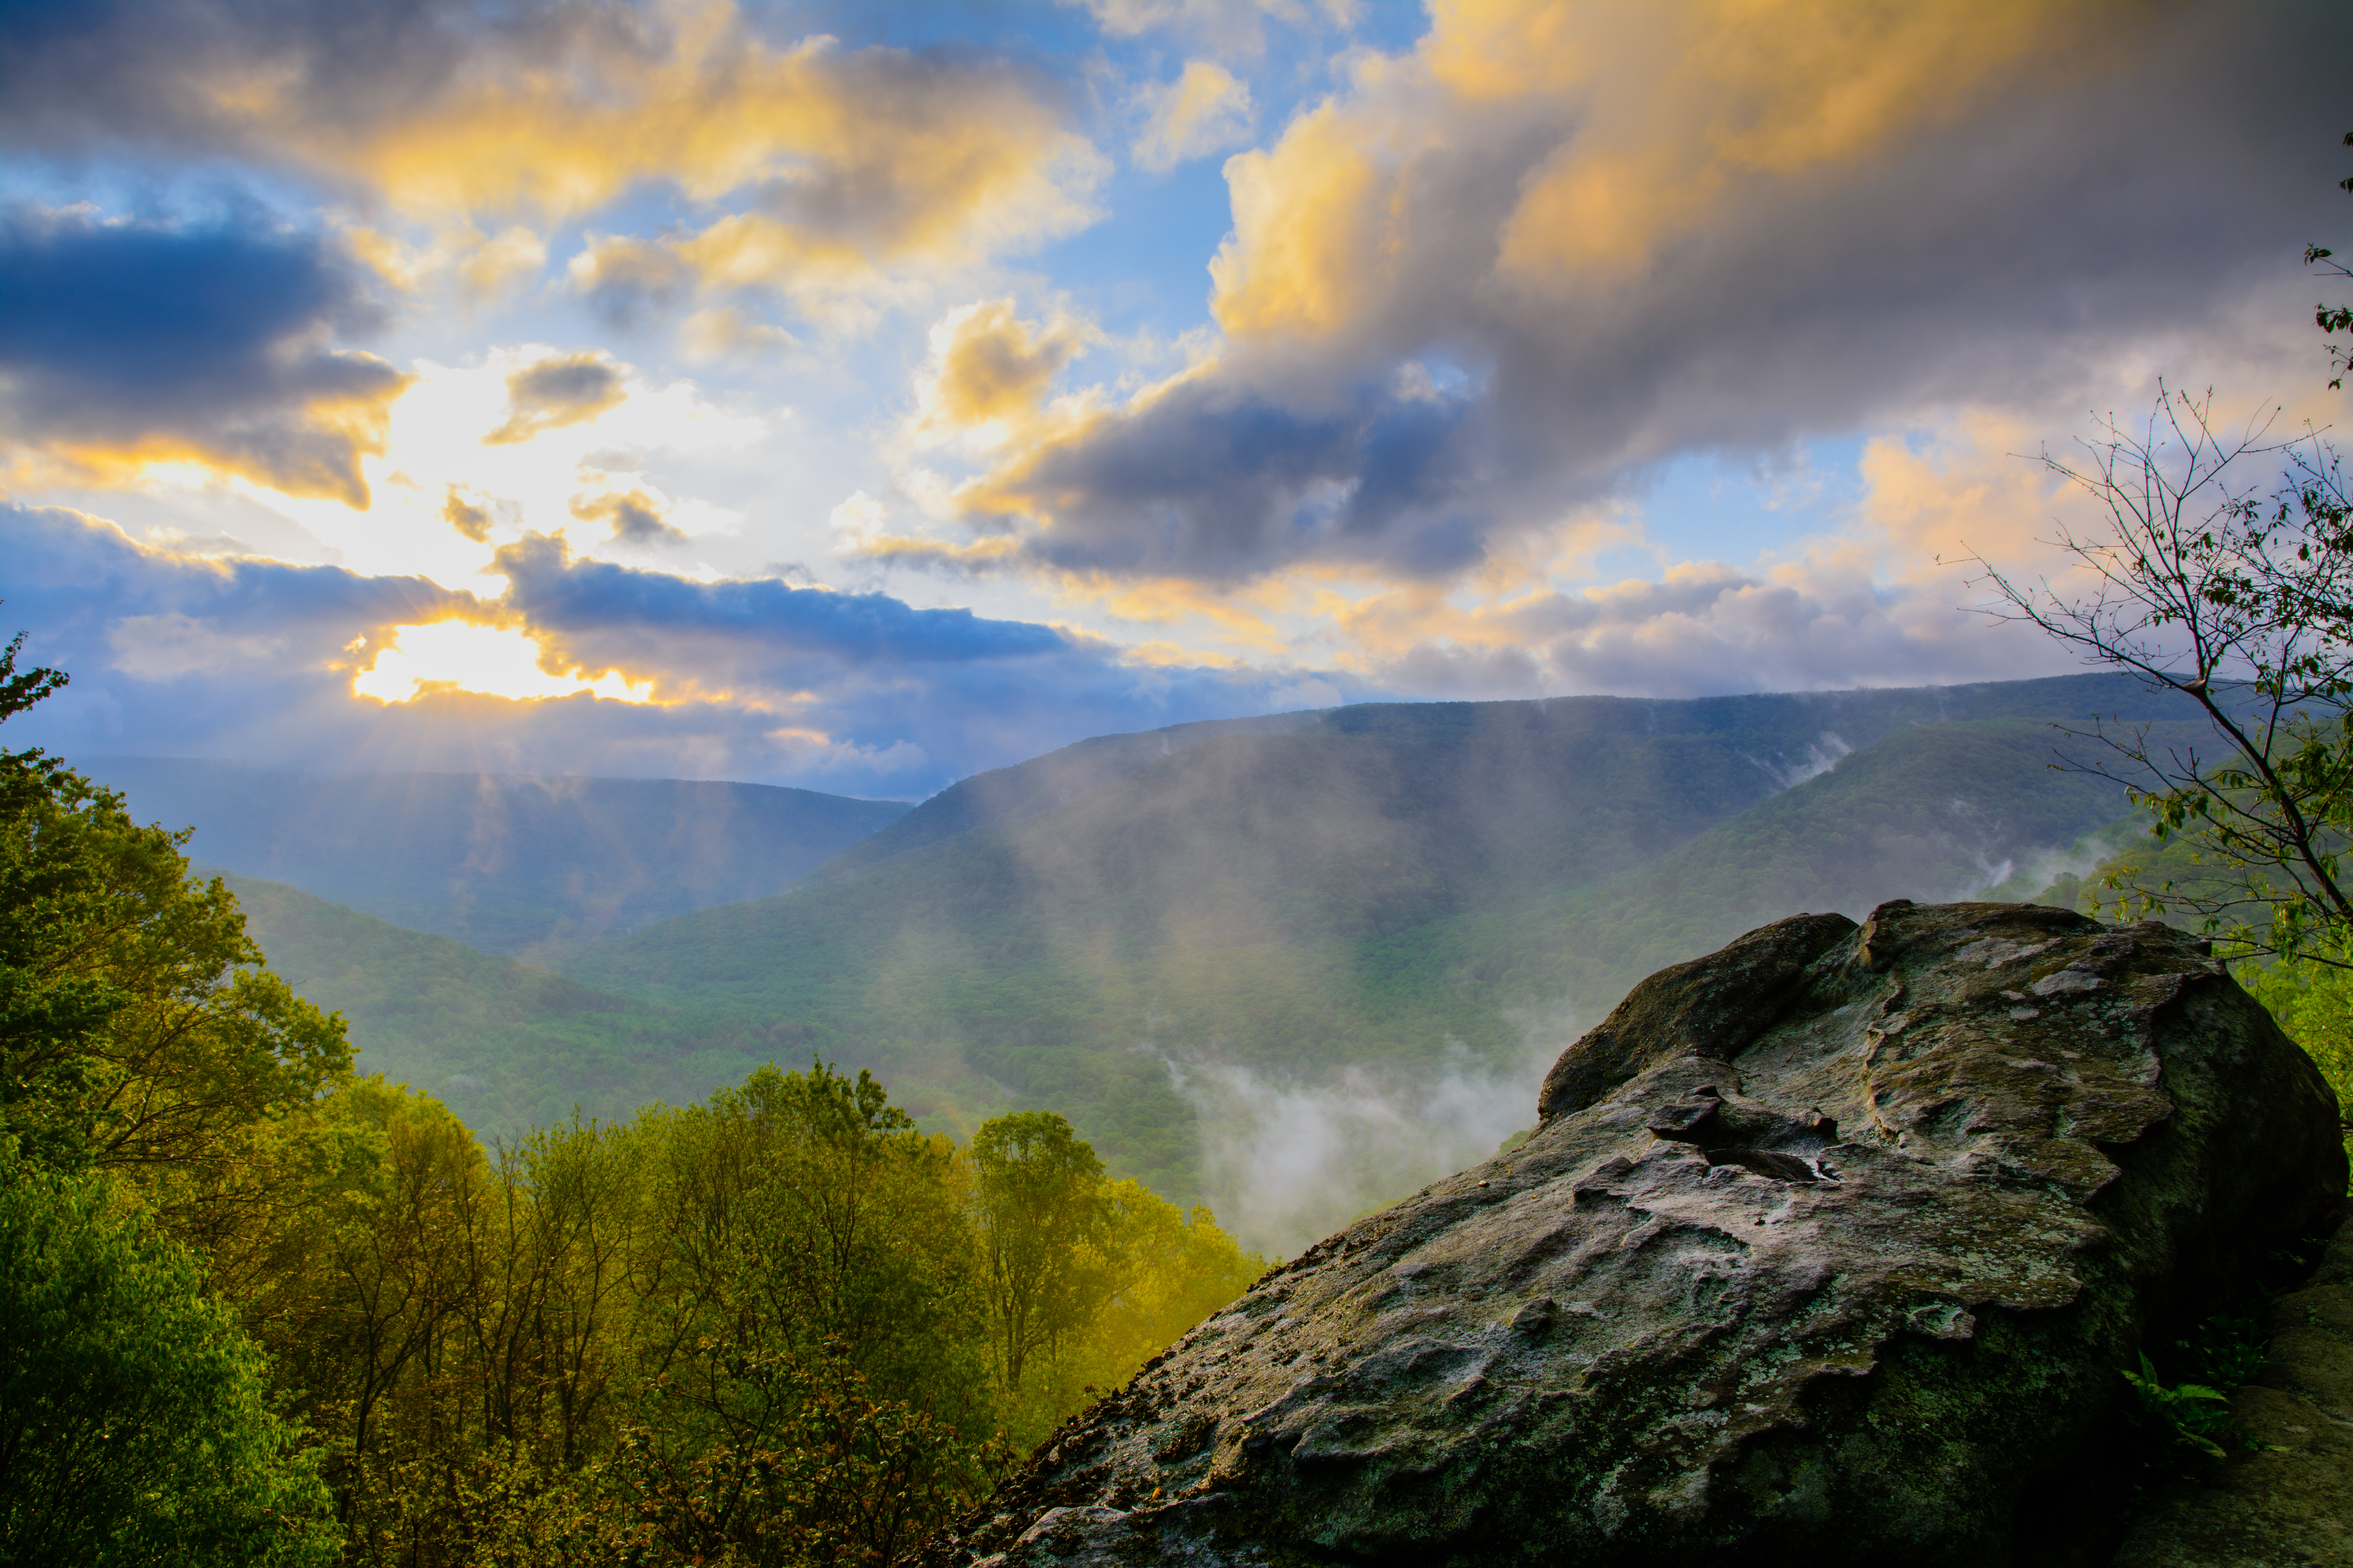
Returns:
[[[2087,461],[2042,463],[2087,494],[2104,527],[2047,541],[2073,583],[2024,581],[1977,559],[1988,614],[2026,621],[2087,663],[2177,691],[2217,748],[2151,724],[2071,731],[2106,748],[2078,762],[2115,778],[2162,844],[2186,837],[2214,877],[2139,889],[2226,931],[2247,952],[2334,961],[2353,929],[2339,863],[2353,832],[2353,505],[2337,449],[2268,423],[2226,435],[2205,402],[2160,388],[2141,430],[2101,423]]]

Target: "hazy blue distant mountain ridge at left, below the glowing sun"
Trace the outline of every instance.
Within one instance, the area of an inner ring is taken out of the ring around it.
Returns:
[[[682,778],[78,764],[139,820],[193,823],[198,865],[511,954],[779,893],[906,813],[904,802]]]

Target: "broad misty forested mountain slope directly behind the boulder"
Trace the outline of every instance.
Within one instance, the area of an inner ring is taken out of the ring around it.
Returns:
[[[581,952],[567,973],[793,1018],[906,1084],[958,1063],[1064,1110],[1118,1168],[1228,1206],[1289,1180],[1249,1147],[1299,1133],[1268,1119],[1299,1095],[1325,1095],[1297,1105],[1322,1117],[1313,1135],[1332,1117],[1414,1124],[1386,1138],[1386,1171],[1318,1175],[1320,1197],[1257,1232],[1297,1244],[1492,1147],[1511,1128],[1489,1107],[1525,1100],[1567,1032],[1649,969],[1800,907],[1984,889],[2005,860],[2113,820],[2118,788],[2049,769],[2047,722],[1965,715],[2129,698],[2024,682],[1339,710],[1129,750],[1136,766],[1045,809],[998,785],[1019,799],[1009,825],[969,825],[965,802],[960,832],[875,853],[920,830],[925,804],[849,851],[847,875]],[[1826,766],[1873,729],[1885,738]],[[1784,788],[1807,766],[1826,771]],[[1433,1095],[1471,1131],[1424,1135]]]

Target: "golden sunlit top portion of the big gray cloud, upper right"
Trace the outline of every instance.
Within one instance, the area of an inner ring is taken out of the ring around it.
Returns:
[[[1758,179],[1880,155],[2031,75],[2068,71],[2113,7],[2035,0],[1433,0],[1409,59],[1228,162],[1212,263],[1235,339],[1360,322],[1412,233],[1417,155],[1551,127],[1494,233],[1499,282],[1558,294],[1635,275]]]

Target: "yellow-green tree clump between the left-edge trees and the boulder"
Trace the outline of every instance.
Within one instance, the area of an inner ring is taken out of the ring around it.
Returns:
[[[1054,1119],[958,1150],[824,1063],[496,1157],[381,1081],[327,1114],[374,1157],[256,1305],[365,1561],[880,1563],[1264,1267]],[[1007,1185],[1075,1258],[991,1251]]]

